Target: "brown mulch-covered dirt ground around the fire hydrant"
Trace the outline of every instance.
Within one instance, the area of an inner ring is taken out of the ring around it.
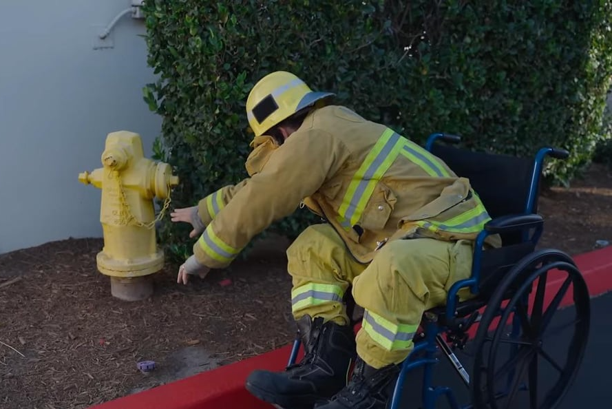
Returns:
[[[577,254],[612,240],[611,171],[593,165],[570,189],[542,193],[540,213],[542,247]],[[154,296],[132,303],[96,270],[100,239],[0,255],[0,408],[87,408],[291,342],[287,244],[188,286],[166,266]],[[142,360],[158,368],[141,373]]]

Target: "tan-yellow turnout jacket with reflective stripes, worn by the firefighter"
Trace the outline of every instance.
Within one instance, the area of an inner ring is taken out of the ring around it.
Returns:
[[[311,112],[283,145],[260,136],[251,147],[249,178],[198,203],[207,228],[193,252],[211,268],[228,266],[255,235],[304,205],[363,264],[390,240],[474,240],[490,220],[469,180],[346,107]]]

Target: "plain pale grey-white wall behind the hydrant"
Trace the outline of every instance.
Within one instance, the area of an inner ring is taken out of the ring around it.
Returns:
[[[100,167],[106,135],[143,136],[161,119],[143,102],[154,80],[143,21],[125,16],[113,48],[98,32],[129,0],[0,0],[0,253],[101,237],[100,191],[78,173]],[[97,26],[97,27],[96,27]]]

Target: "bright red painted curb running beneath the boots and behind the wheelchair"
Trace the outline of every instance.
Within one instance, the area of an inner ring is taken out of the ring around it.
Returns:
[[[587,281],[592,297],[612,291],[612,247],[576,255],[574,260]],[[547,303],[561,284],[562,278],[549,282]],[[571,297],[565,297],[561,306],[571,304]],[[91,409],[270,409],[272,406],[256,399],[244,388],[244,382],[255,369],[284,369],[290,352],[291,346],[285,346]]]

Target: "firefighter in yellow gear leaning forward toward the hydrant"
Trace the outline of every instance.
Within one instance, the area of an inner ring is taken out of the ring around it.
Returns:
[[[228,266],[257,233],[308,207],[325,222],[287,250],[304,359],[280,373],[255,370],[246,388],[287,409],[384,408],[423,311],[469,277],[490,218],[467,179],[332,97],[289,72],[255,84],[246,101],[249,178],[171,215],[200,235],[177,281]],[[365,311],[357,337],[349,289]]]

